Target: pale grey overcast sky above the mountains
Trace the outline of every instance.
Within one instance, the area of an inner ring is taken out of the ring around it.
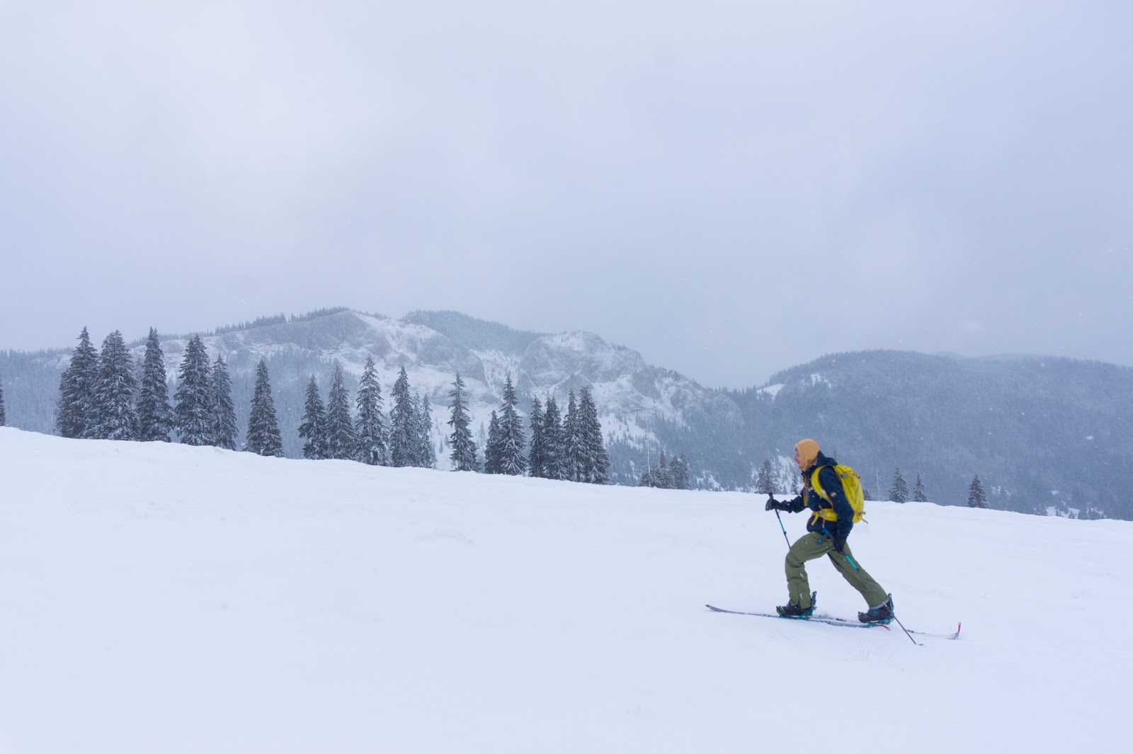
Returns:
[[[1133,363],[1133,3],[0,0],[0,349],[349,306]]]

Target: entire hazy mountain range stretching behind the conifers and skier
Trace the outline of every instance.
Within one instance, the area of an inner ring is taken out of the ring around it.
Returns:
[[[78,327],[76,327],[76,331]],[[97,344],[104,333],[92,333]],[[687,456],[693,485],[751,490],[770,461],[793,491],[793,444],[813,437],[854,466],[874,499],[887,497],[901,469],[919,474],[928,498],[963,505],[979,474],[991,507],[1024,513],[1133,519],[1118,480],[1133,472],[1133,369],[1063,358],[960,358],[897,351],[832,354],[785,369],[766,385],[707,388],[646,363],[624,345],[587,332],[523,332],[453,311],[400,319],[349,309],[266,317],[203,334],[222,354],[246,427],[255,366],[267,361],[287,455],[301,455],[298,425],[312,375],[326,391],[333,362],[351,395],[367,357],[377,365],[386,409],[404,367],[433,406],[437,468],[448,469],[451,383],[459,371],[483,451],[488,418],[510,375],[530,399],[586,386],[594,394],[615,483],[636,485],[664,451]],[[163,335],[171,388],[191,335]],[[140,357],[143,343],[131,343]],[[735,348],[750,348],[736,344]],[[69,350],[0,353],[7,422],[51,432],[59,376]]]

